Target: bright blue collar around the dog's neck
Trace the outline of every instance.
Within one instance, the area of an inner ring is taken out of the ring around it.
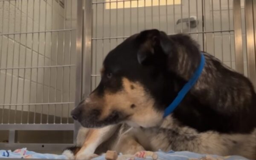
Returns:
[[[195,82],[200,77],[203,69],[204,69],[204,55],[201,53],[201,62],[195,71],[194,75],[189,79],[189,81],[183,86],[183,88],[179,91],[176,98],[172,101],[172,103],[165,109],[163,117],[165,118],[169,114],[172,113],[172,111],[175,110],[175,108],[180,104],[180,102],[183,100],[183,98],[186,96],[186,93],[189,92],[189,90],[194,86]]]

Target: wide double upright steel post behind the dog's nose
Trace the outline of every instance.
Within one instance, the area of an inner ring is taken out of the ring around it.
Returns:
[[[78,0],[77,3],[77,41],[76,41],[76,102],[90,94],[91,41],[92,41],[92,1]],[[82,7],[80,7],[82,6]],[[89,76],[88,76],[89,75]],[[74,143],[80,124],[75,122]]]

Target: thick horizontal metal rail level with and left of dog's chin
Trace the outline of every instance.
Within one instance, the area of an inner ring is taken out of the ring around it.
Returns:
[[[74,124],[0,124],[0,130],[73,131]]]

